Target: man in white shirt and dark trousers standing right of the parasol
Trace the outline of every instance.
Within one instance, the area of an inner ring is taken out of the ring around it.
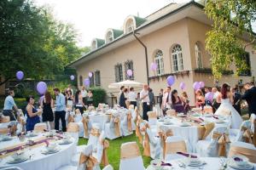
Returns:
[[[148,85],[144,84],[143,90],[140,93],[140,99],[143,102],[143,120],[148,121],[148,111],[149,111],[149,97],[148,97]]]

